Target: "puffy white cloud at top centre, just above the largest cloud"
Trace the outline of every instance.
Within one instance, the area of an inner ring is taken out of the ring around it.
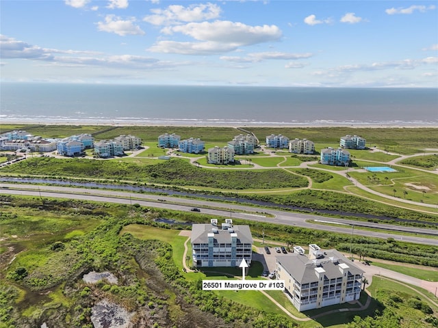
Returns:
[[[153,25],[174,25],[218,18],[220,7],[214,3],[189,5],[169,5],[166,9],[153,9],[153,15],[143,20]]]

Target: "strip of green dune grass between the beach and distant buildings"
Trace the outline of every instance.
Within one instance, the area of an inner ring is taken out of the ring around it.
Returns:
[[[247,128],[248,129],[248,128]],[[79,133],[91,133],[97,139],[112,139],[118,135],[136,135],[144,141],[156,141],[164,133],[176,133],[181,139],[201,138],[207,142],[227,142],[235,135],[243,133],[237,128],[201,127],[201,126],[63,126],[63,125],[25,125],[0,124],[0,133],[12,130],[25,130],[42,137],[66,137]],[[391,152],[410,153],[422,148],[436,148],[435,128],[275,128],[251,127],[261,143],[266,136],[282,134],[289,139],[307,138],[315,143],[325,143],[337,147],[340,137],[359,135],[367,140],[368,146],[378,146]],[[243,133],[245,134],[245,133]],[[320,148],[318,148],[320,149]]]

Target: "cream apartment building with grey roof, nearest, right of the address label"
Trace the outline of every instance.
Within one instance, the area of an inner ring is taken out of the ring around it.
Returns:
[[[276,279],[298,311],[318,309],[359,299],[364,271],[336,249],[322,251],[309,245],[304,254],[276,256]]]

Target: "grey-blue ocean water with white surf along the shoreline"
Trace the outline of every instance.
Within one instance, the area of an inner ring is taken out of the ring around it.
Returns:
[[[1,83],[0,122],[438,126],[438,90]]]

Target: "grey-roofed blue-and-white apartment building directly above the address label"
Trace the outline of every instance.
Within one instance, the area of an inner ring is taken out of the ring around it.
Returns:
[[[249,226],[233,226],[227,219],[218,228],[218,220],[192,226],[192,256],[195,267],[238,267],[243,259],[250,265],[253,236]]]

